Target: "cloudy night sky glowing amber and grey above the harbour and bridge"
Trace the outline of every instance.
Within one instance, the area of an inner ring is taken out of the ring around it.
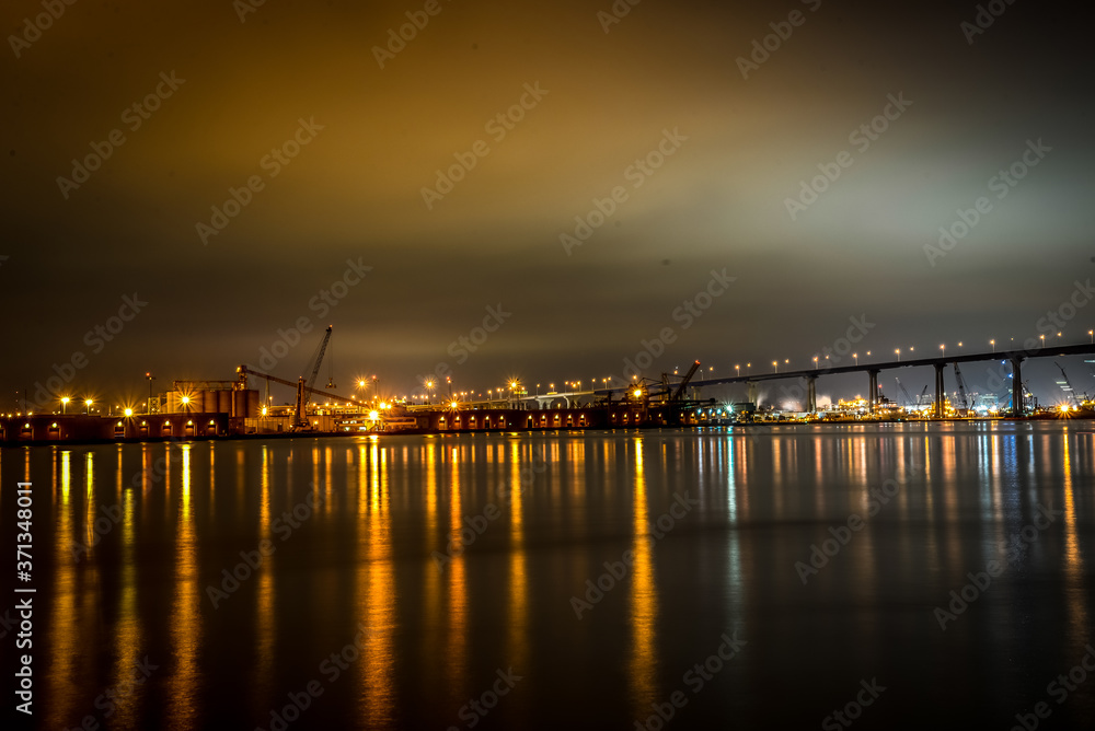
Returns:
[[[4,410],[296,380],[328,324],[347,395],[1095,327],[1074,4],[257,2],[4,4]]]

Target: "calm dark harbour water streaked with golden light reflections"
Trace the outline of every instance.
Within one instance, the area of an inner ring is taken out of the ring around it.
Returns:
[[[1091,728],[1093,428],[2,450],[34,724]]]

